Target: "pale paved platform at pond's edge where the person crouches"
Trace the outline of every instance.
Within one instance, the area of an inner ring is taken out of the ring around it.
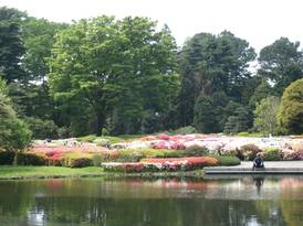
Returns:
[[[236,166],[205,168],[206,174],[303,174],[303,161],[265,161],[265,169],[252,171],[252,162]]]

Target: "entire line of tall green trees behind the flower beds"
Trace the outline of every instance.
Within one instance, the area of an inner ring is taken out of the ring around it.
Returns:
[[[300,43],[286,37],[259,55],[229,31],[198,33],[178,47],[167,25],[158,29],[147,18],[67,24],[0,8],[0,114],[9,106],[7,118],[33,138],[180,127],[302,133],[302,83],[280,104],[302,71]],[[296,111],[285,115],[280,109],[289,105]]]

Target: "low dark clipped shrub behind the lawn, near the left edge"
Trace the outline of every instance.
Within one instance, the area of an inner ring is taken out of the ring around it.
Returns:
[[[48,162],[49,162],[49,160],[45,155],[19,151],[14,155],[13,164],[15,164],[15,165],[46,165]]]

